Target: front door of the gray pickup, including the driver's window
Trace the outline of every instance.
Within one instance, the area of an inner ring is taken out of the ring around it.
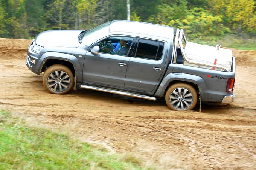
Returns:
[[[89,51],[86,53],[83,82],[123,88],[130,60],[127,54],[132,41],[131,37],[118,36],[109,37],[97,43],[96,45],[100,47],[100,54],[93,54]]]

